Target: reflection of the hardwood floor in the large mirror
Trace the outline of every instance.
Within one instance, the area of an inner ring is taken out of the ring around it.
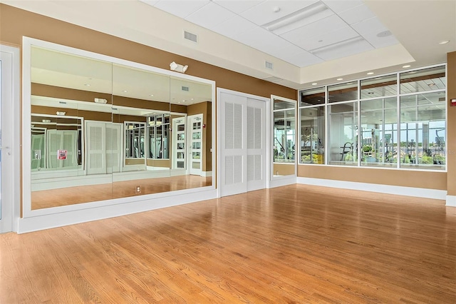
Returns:
[[[58,188],[31,193],[31,209],[51,208],[58,206],[105,201],[113,198],[142,196],[145,194],[199,188],[212,185],[212,177],[172,176],[167,178],[144,178],[132,181],[117,181],[91,186]],[[140,186],[140,193],[136,187]]]

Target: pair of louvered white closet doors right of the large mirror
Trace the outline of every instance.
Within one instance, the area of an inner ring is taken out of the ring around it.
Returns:
[[[220,93],[220,196],[266,187],[266,102]]]

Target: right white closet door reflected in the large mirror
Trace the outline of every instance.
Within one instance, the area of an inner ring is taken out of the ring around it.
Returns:
[[[122,123],[106,123],[106,171],[120,172],[122,163]]]

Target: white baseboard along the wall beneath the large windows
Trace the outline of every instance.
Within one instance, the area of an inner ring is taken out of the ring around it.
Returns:
[[[351,181],[334,181],[322,178],[297,178],[296,183],[304,185],[323,186],[331,188],[343,188],[358,191],[371,191],[377,193],[395,194],[398,196],[415,196],[418,198],[433,198],[445,200],[447,191],[403,186],[380,185],[376,183],[356,183]]]

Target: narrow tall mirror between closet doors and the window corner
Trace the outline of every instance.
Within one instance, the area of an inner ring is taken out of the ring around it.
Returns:
[[[273,176],[295,174],[296,101],[274,98]]]

